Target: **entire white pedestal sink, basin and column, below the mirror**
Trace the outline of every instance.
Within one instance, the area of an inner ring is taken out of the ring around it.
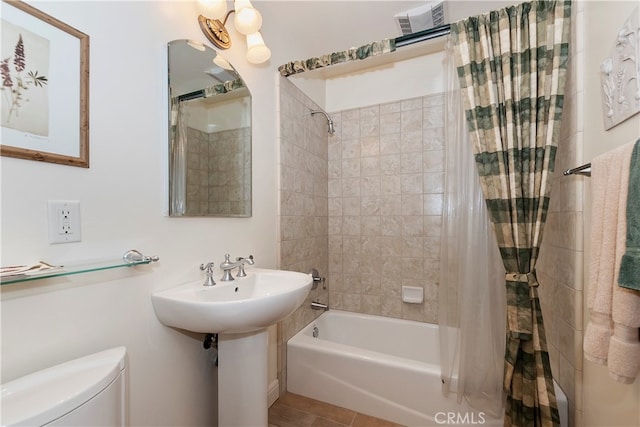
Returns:
[[[308,274],[251,268],[246,277],[203,280],[155,292],[166,326],[218,334],[218,424],[267,425],[267,328],[295,311],[311,290]]]

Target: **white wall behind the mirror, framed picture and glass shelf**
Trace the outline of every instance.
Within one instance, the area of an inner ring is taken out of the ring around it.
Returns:
[[[158,255],[160,262],[133,271],[2,286],[2,381],[125,345],[131,425],[214,425],[209,353],[200,336],[161,325],[150,294],[199,280],[198,266],[218,264],[226,252],[253,254],[258,266],[275,266],[276,161],[270,112],[276,63],[250,66],[240,43],[229,52],[253,94],[253,216],[167,218],[162,216],[166,43],[204,41],[195,3],[29,3],[91,37],[91,167],[0,159],[2,265],[117,258],[130,248]],[[48,243],[46,206],[51,199],[80,201],[82,242]]]

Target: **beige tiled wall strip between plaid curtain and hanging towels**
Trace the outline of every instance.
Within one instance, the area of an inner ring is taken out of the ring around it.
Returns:
[[[571,55],[549,214],[537,271],[553,376],[569,400],[570,426],[582,425],[583,200],[582,176],[563,176],[581,165],[583,46],[576,32],[583,22],[577,2],[572,16]]]

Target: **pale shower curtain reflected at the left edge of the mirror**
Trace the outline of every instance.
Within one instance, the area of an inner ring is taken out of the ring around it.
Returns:
[[[172,215],[187,213],[187,114],[184,102],[172,100],[169,141],[169,203]]]

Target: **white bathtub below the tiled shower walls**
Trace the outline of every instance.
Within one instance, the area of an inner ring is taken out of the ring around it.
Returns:
[[[442,394],[438,342],[437,325],[327,311],[287,342],[287,389],[407,426],[502,426]]]

